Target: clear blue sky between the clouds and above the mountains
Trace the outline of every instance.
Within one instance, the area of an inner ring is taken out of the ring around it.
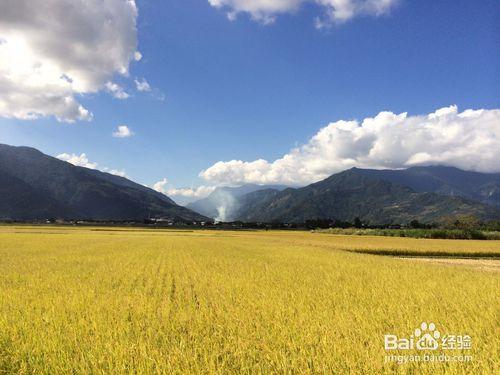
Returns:
[[[198,174],[216,162],[272,162],[338,120],[499,107],[496,0],[401,0],[322,29],[313,3],[272,24],[247,13],[231,21],[206,0],[137,8],[142,59],[114,79],[131,97],[78,96],[92,121],[0,118],[0,142],[85,153],[141,183],[192,187],[214,182]],[[137,91],[135,78],[152,91]],[[118,125],[134,135],[113,137]]]

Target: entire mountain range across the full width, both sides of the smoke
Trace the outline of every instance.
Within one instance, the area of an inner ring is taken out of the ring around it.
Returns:
[[[500,220],[500,174],[451,167],[352,168],[301,188],[219,187],[177,205],[126,178],[0,144],[0,219],[434,223],[458,215]]]

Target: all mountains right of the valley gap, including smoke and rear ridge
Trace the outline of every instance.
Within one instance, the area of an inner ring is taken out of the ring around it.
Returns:
[[[249,185],[222,188],[188,207],[220,219],[244,222],[304,222],[310,219],[371,224],[439,222],[473,215],[500,218],[500,174],[453,167],[412,167],[404,170],[353,168],[302,187]],[[246,192],[246,193],[243,193]]]

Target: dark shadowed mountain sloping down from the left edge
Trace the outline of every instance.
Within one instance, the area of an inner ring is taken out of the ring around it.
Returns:
[[[0,218],[206,221],[126,178],[77,167],[29,147],[0,144]]]

